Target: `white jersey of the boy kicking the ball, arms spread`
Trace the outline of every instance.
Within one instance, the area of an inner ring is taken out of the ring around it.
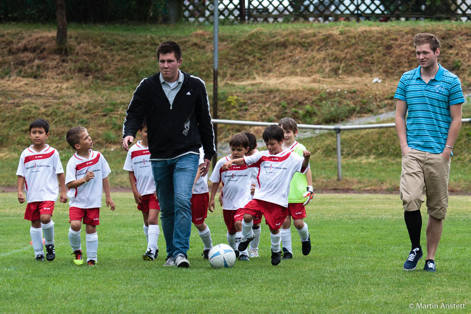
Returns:
[[[289,183],[294,173],[301,170],[305,173],[308,169],[301,169],[303,160],[303,157],[288,150],[276,155],[262,151],[245,156],[247,166],[258,169],[254,199],[288,207]]]

